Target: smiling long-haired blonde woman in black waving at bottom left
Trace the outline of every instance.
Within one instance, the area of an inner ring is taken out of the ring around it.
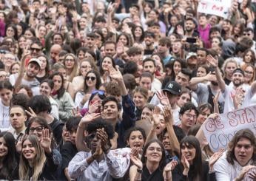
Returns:
[[[42,131],[39,141],[35,135],[27,135],[22,141],[19,163],[20,180],[55,180],[54,171],[58,165],[53,162],[49,130]]]

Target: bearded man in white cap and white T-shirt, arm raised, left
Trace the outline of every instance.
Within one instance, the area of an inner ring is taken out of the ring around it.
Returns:
[[[10,83],[14,85],[16,89],[19,85],[27,85],[31,88],[33,95],[39,95],[39,82],[36,79],[36,75],[41,69],[41,61],[37,58],[31,58],[27,64],[26,72],[25,69],[25,59],[27,55],[21,59],[21,69],[18,74],[10,75]]]

